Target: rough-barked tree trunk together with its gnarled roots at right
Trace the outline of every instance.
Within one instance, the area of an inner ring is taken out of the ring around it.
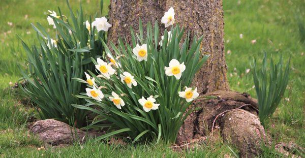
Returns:
[[[227,66],[224,53],[224,19],[223,19],[223,6],[222,0],[112,0],[110,1],[109,22],[112,24],[108,32],[108,41],[117,44],[118,37],[126,37],[128,42],[131,43],[130,26],[138,30],[139,18],[143,21],[143,28],[147,22],[154,23],[159,21],[160,32],[165,29],[161,24],[161,18],[170,7],[175,10],[175,23],[186,28],[190,31],[191,40],[194,35],[203,35],[201,44],[202,54],[210,54],[206,64],[196,74],[193,81],[194,86],[198,88],[199,93],[217,96],[218,99],[209,101],[196,101],[194,106],[201,107],[201,110],[192,112],[190,116],[182,125],[177,138],[177,144],[181,145],[192,141],[198,137],[205,136],[212,129],[212,122],[219,114],[226,114],[228,110],[236,109],[240,106],[243,111],[240,115],[257,115],[257,104],[248,94],[241,94],[237,92],[228,91],[229,86],[227,82]],[[144,30],[145,31],[145,30]],[[218,91],[220,90],[220,91]],[[249,112],[247,112],[249,111]],[[238,114],[238,116],[239,116]],[[230,120],[229,117],[218,118],[215,122],[218,127],[222,127],[224,131],[232,131],[232,128],[227,127]],[[234,116],[235,117],[235,116]],[[245,116],[248,121],[253,122],[257,117]],[[235,120],[235,119],[232,119]],[[257,121],[256,121],[257,122]],[[264,131],[260,123],[240,123],[240,125],[255,125],[256,127],[245,127],[247,129],[257,128],[259,133]],[[243,127],[241,127],[243,128]],[[234,130],[233,130],[234,131]],[[241,130],[242,131],[242,130]],[[255,134],[248,134],[248,131],[240,134],[240,136],[252,137]],[[233,133],[222,134],[225,140],[237,139]],[[250,144],[256,144],[260,137],[253,139],[245,139],[251,141]],[[239,140],[231,141],[242,143]],[[243,142],[249,143],[249,142]],[[238,146],[239,147],[239,146]],[[246,152],[254,154],[258,151],[253,150],[257,146],[249,147],[240,145],[241,156]]]

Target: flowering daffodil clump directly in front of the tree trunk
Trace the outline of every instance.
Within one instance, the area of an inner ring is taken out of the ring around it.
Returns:
[[[174,20],[174,10],[170,8],[161,21],[167,27]],[[162,38],[159,28],[151,28],[149,23],[147,26],[147,37],[136,36],[132,31],[132,45],[119,39],[117,47],[112,45],[113,52],[103,42],[109,59],[93,59],[96,69],[88,71],[86,80],[79,79],[88,88],[78,97],[100,106],[101,118],[116,125],[115,134],[127,132],[134,142],[156,137],[159,141],[162,137],[172,143],[188,115],[187,109],[199,96],[197,88],[190,85],[208,56],[199,58],[202,38],[195,38],[190,44],[188,37],[181,39],[179,35],[184,30],[178,26],[165,30]],[[95,82],[91,83],[93,79]],[[75,106],[97,112],[87,106]]]

